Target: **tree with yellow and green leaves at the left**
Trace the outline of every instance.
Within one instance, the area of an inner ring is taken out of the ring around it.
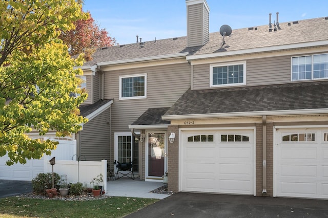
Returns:
[[[74,21],[87,19],[81,1],[5,0],[0,3],[0,157],[7,165],[39,159],[56,148],[57,142],[30,139],[55,130],[58,137],[81,129],[87,119],[78,106],[87,98],[78,89],[76,75],[83,58],[72,59],[58,39],[74,28]],[[74,97],[71,93],[79,93]]]

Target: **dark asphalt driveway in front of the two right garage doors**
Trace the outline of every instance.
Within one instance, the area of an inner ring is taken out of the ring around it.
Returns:
[[[328,200],[179,192],[127,217],[328,217]]]

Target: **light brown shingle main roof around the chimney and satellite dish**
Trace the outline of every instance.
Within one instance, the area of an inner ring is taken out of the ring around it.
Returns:
[[[289,26],[290,23],[290,26]],[[298,24],[285,22],[279,24],[280,29],[269,32],[269,26],[258,26],[257,30],[249,28],[236,29],[232,35],[225,37],[222,46],[222,36],[219,32],[210,33],[210,41],[204,46],[187,48],[187,37],[177,37],[139,43],[120,45],[99,49],[93,55],[93,60],[85,66],[93,66],[99,62],[129,60],[134,58],[153,57],[159,55],[189,52],[189,55],[210,54],[224,51],[262,48],[293,43],[328,40],[328,20],[324,17],[299,20]]]

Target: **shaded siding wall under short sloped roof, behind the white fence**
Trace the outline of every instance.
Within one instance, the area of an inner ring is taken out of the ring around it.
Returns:
[[[110,157],[110,108],[97,117],[84,124],[83,130],[79,133],[80,144],[79,154],[88,161],[100,161]],[[112,150],[114,152],[114,149]]]

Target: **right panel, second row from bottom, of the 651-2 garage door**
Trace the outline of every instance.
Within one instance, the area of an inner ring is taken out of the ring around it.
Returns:
[[[252,168],[251,164],[219,164],[220,176],[230,175],[230,176],[251,176]]]

